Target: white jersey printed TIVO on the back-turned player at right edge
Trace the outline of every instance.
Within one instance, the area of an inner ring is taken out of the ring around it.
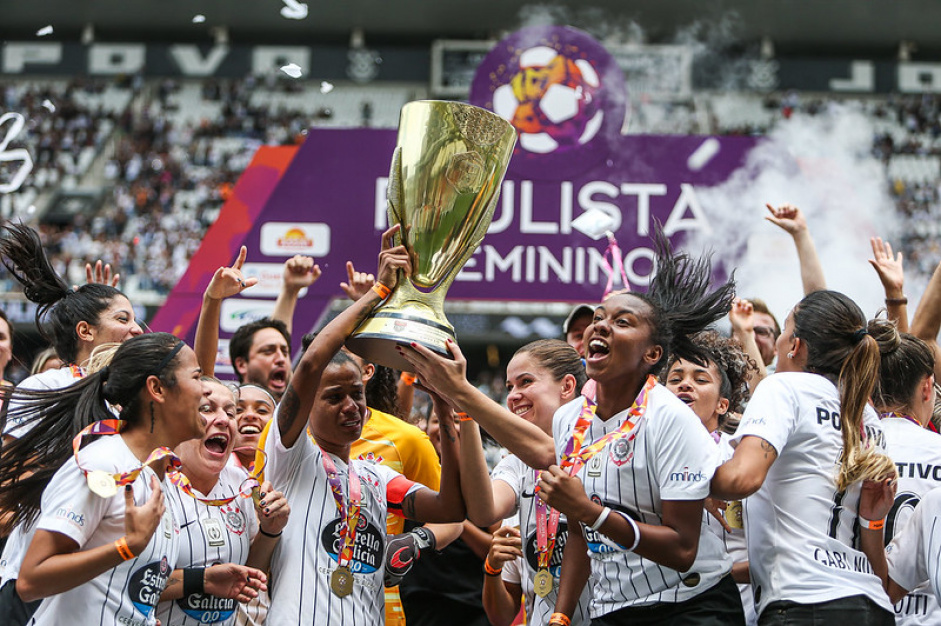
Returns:
[[[895,504],[885,521],[886,543],[902,528],[922,496],[941,487],[941,435],[904,418],[882,420],[886,450],[899,471]],[[891,570],[890,570],[891,575]],[[908,587],[912,592],[895,605],[899,626],[941,626],[941,608],[928,583]]]

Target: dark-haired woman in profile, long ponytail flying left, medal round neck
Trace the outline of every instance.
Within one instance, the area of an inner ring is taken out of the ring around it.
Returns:
[[[63,390],[13,392],[31,428],[0,458],[0,505],[14,524],[36,520],[16,581],[23,600],[46,598],[29,624],[155,623],[180,532],[160,483],[170,450],[205,431],[201,373],[183,341],[155,333]],[[74,441],[61,435],[89,424]],[[225,574],[193,584],[246,598],[249,576],[263,586],[257,570]]]

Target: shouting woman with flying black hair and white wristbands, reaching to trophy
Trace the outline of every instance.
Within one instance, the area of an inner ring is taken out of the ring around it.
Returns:
[[[655,267],[646,294],[615,293],[595,310],[585,339],[597,404],[563,405],[551,436],[468,383],[456,344],[453,361],[417,344],[406,351],[423,385],[546,470],[538,497],[580,522],[550,625],[571,622],[589,573],[595,625],[744,624],[731,559],[702,524],[716,445],[655,378],[671,354],[701,361],[691,335],[728,313],[734,285],[711,290],[708,260],[674,255],[662,235]]]

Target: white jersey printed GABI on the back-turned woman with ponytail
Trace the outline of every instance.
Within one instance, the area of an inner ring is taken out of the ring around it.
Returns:
[[[745,500],[745,534],[758,614],[768,603],[802,604],[855,595],[892,610],[869,559],[857,548],[860,484],[836,489],[843,452],[840,398],[817,374],[784,372],[761,381],[733,436],[764,439],[778,456]],[[885,436],[875,411],[864,411],[867,437]]]

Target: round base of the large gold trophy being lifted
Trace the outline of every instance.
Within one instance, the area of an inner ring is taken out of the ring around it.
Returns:
[[[346,347],[371,363],[411,372],[412,364],[402,358],[396,346],[414,342],[451,358],[448,339],[455,339],[449,326],[414,315],[379,311],[350,335]]]

